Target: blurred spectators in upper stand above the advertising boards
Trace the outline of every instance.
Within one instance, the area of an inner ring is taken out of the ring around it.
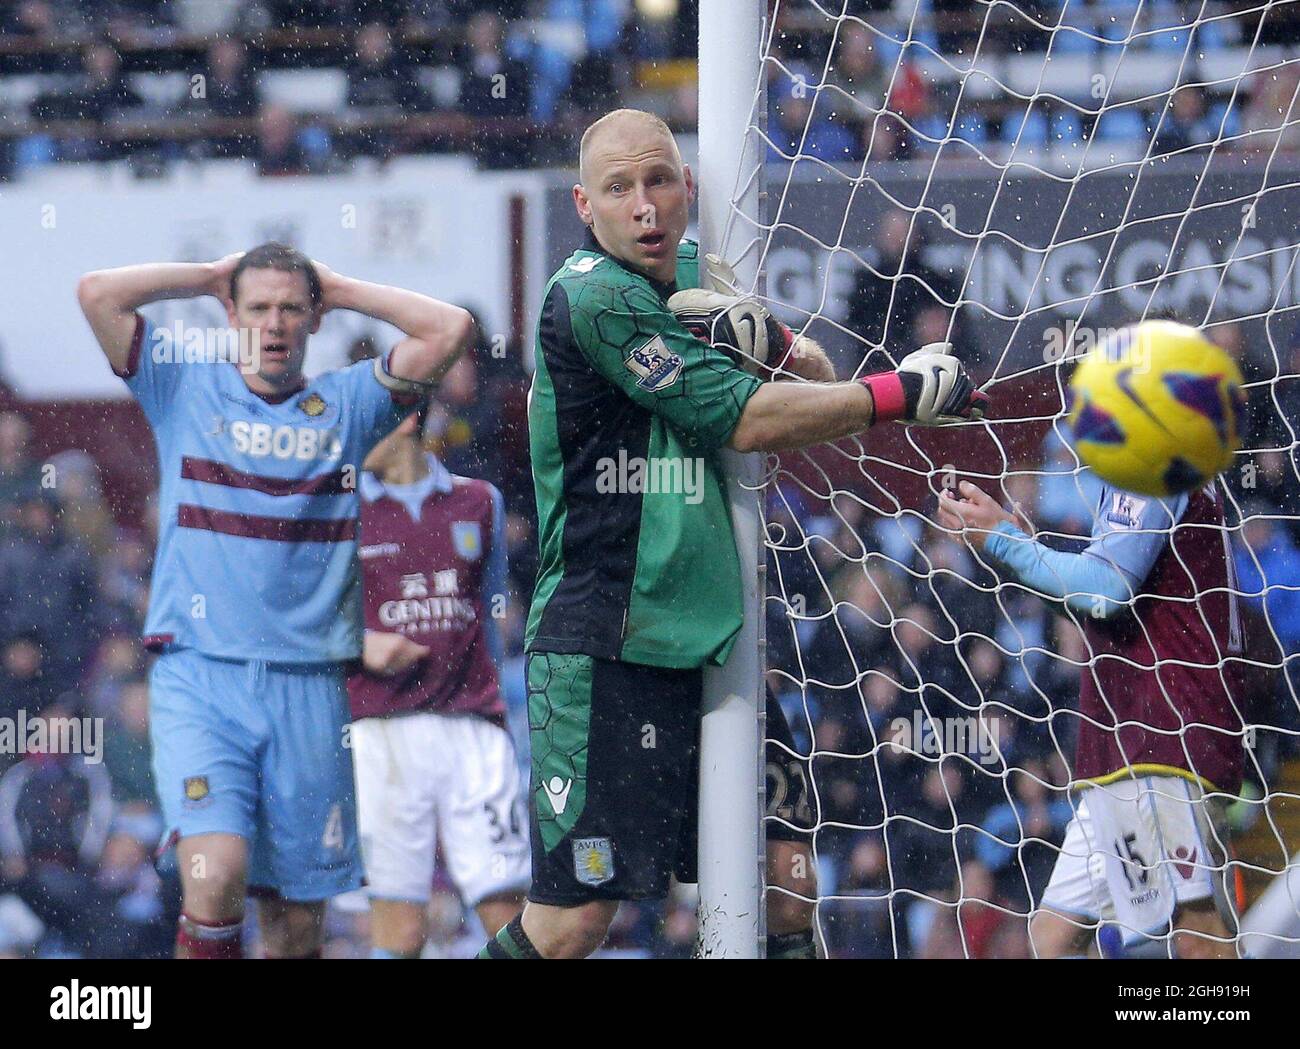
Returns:
[[[864,1],[837,19],[774,3],[771,155],[858,164],[942,148],[948,160],[1034,162],[1093,139],[1095,153],[1153,139],[1153,156],[1278,144],[1270,129],[1290,116],[1294,66],[1265,65],[1242,91],[1240,66],[1216,70],[1234,51],[1292,42],[1291,5],[1139,6],[1135,19],[1127,0],[1034,0],[983,19],[950,0],[918,0],[914,14]],[[573,130],[620,103],[693,130],[694,19],[688,0],[22,0],[0,8],[0,177],[120,157],[140,173],[244,157],[265,175],[411,152],[563,162]],[[1032,105],[985,97],[937,57],[976,45],[994,68],[1041,62],[1049,47],[1065,62],[1122,48],[1130,62],[1174,62],[1182,86],[1167,108],[1109,90],[1098,101],[1080,66]],[[1282,134],[1282,148],[1296,144]]]

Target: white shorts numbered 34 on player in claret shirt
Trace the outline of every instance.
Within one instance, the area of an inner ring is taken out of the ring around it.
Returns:
[[[363,718],[352,759],[372,900],[429,900],[439,845],[465,906],[528,889],[528,816],[506,729],[428,711]]]

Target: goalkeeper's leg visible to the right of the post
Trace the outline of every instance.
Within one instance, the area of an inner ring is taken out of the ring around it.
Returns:
[[[767,957],[815,958],[812,918],[816,871],[812,864],[812,806],[807,764],[780,703],[767,692]]]

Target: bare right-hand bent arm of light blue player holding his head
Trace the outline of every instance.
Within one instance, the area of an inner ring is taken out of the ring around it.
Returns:
[[[473,318],[459,305],[419,291],[359,281],[316,263],[325,309],[354,309],[387,321],[406,334],[389,359],[389,372],[416,382],[438,382],[464,352]]]

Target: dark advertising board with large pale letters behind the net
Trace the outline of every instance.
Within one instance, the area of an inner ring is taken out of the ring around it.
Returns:
[[[890,208],[915,214],[924,265],[965,289],[961,322],[985,376],[1041,365],[1071,321],[1098,329],[1171,311],[1200,324],[1212,302],[1212,320],[1282,311],[1270,325],[1279,355],[1294,338],[1294,160],[1266,172],[1262,157],[1223,157],[1208,174],[1191,157],[1112,164],[1074,181],[1022,166],[949,165],[933,178],[928,162],[893,169],[854,183],[801,162],[786,185],[786,165],[768,168],[770,199],[781,201],[763,263],[768,295],[790,324],[816,313],[810,334],[845,356],[862,350],[842,328],[854,276],[879,263],[874,238]],[[551,269],[581,237],[569,185],[549,195]],[[885,341],[902,347],[910,334],[890,322]]]

